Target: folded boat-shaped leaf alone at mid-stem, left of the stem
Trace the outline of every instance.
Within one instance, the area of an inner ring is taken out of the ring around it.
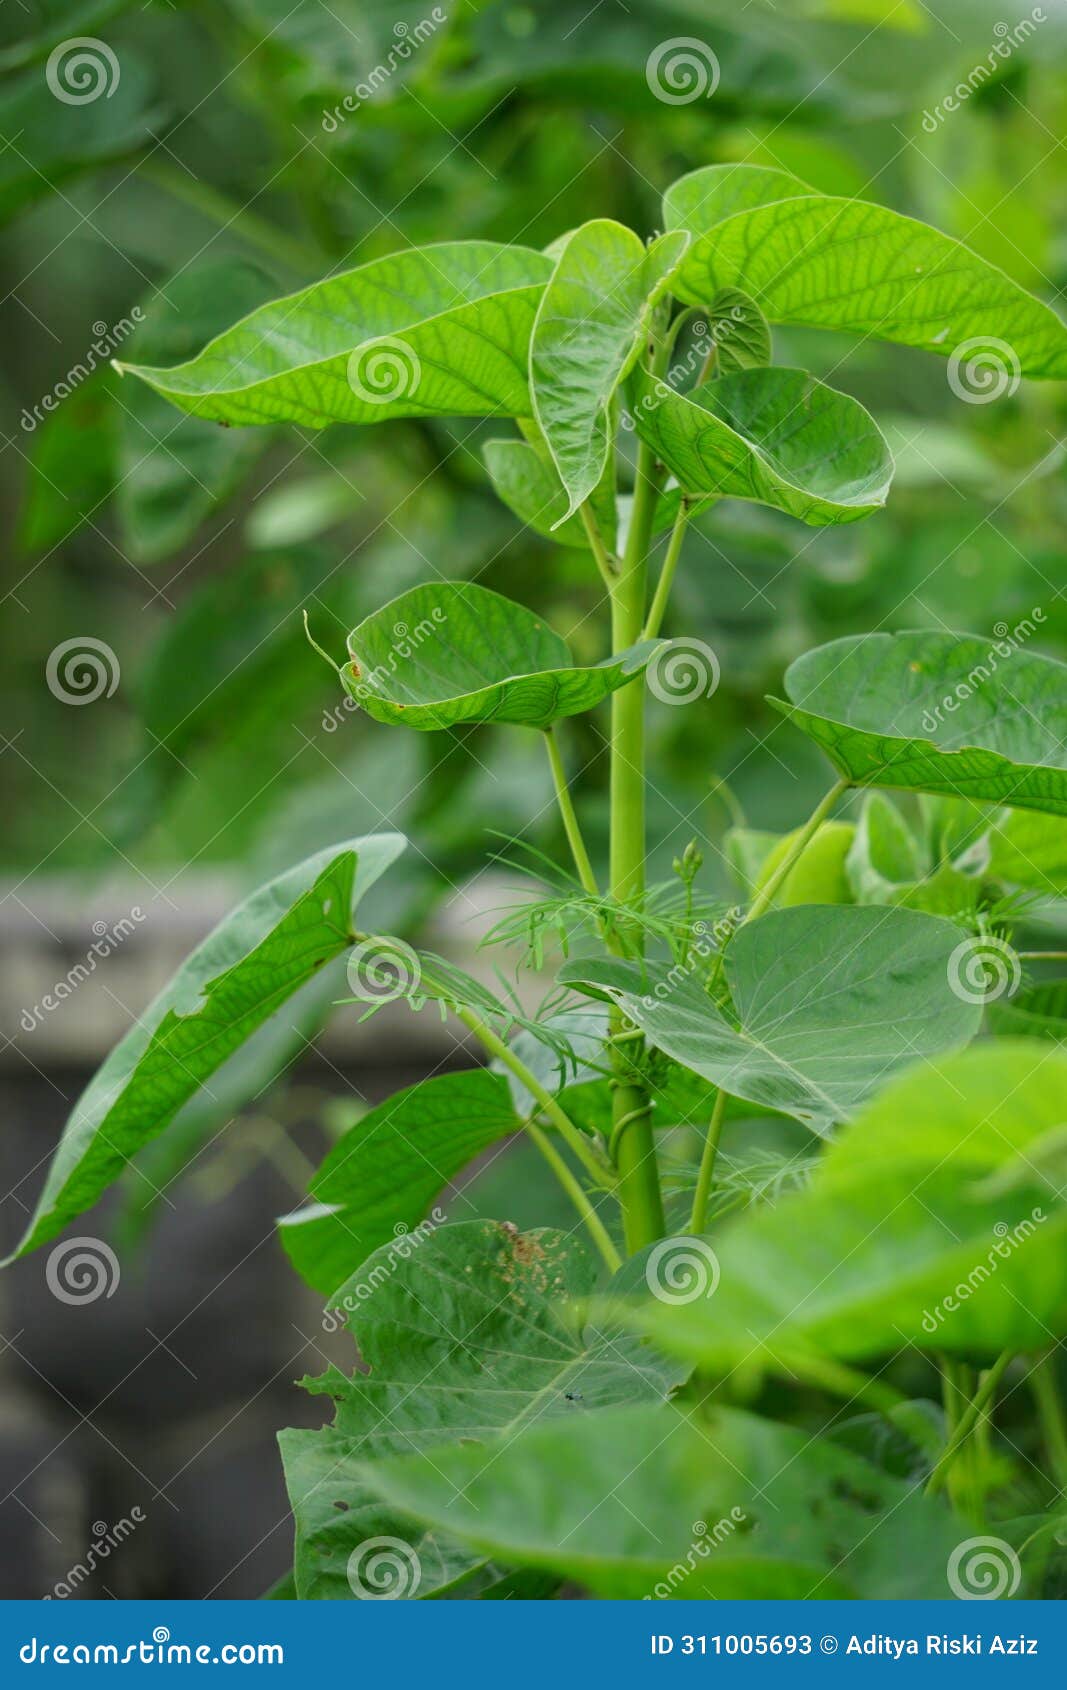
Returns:
[[[641,674],[658,647],[643,641],[588,668],[524,605],[485,586],[413,586],[348,635],[345,691],[375,722],[453,728],[514,722],[546,728],[592,710]]]

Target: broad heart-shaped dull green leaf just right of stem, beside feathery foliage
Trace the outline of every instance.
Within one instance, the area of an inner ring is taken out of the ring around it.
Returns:
[[[605,990],[658,1049],[730,1095],[825,1134],[893,1070],[977,1033],[981,1006],[949,984],[960,938],[915,911],[805,904],[739,928],[722,1007],[680,963],[572,962],[560,979]]]

